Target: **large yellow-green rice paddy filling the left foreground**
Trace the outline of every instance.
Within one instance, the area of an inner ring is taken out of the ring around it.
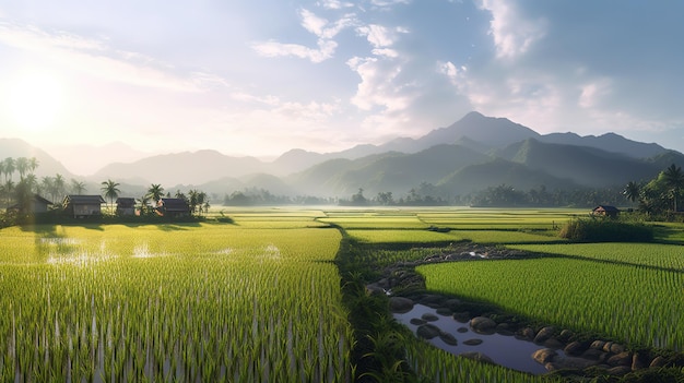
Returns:
[[[302,223],[0,230],[0,380],[349,381],[340,235]]]

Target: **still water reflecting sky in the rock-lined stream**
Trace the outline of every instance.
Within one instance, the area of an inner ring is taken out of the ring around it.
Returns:
[[[510,369],[534,374],[549,372],[546,371],[544,366],[538,363],[536,361],[534,361],[534,359],[532,359],[532,354],[534,351],[545,348],[544,346],[536,345],[533,342],[520,340],[517,339],[515,336],[504,336],[500,334],[482,335],[474,333],[470,328],[468,323],[460,323],[451,316],[439,315],[437,314],[435,309],[431,309],[423,304],[415,304],[413,307],[413,310],[408,313],[394,313],[394,318],[398,322],[411,328],[411,331],[413,331],[413,333],[415,334],[415,331],[418,326],[411,324],[410,321],[413,318],[421,318],[424,313],[437,315],[437,321],[428,323],[436,325],[441,331],[453,335],[458,339],[457,346],[447,345],[439,337],[435,337],[428,340],[432,345],[439,347],[443,350],[449,351],[455,355],[471,351],[482,352],[492,358],[495,363],[508,367]],[[457,330],[460,327],[467,327],[468,332],[459,333]],[[468,346],[463,344],[463,342],[472,338],[482,339],[484,342],[476,346]],[[563,355],[563,351],[558,350],[558,354]]]

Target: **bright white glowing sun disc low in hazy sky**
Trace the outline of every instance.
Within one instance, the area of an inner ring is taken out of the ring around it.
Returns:
[[[64,103],[61,82],[46,72],[26,72],[10,87],[10,111],[20,128],[40,132],[55,127]]]

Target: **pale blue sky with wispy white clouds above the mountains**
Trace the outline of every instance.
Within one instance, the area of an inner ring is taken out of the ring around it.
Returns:
[[[274,157],[418,137],[476,110],[684,152],[682,14],[636,0],[0,0],[0,137],[72,166],[73,145],[115,142]]]

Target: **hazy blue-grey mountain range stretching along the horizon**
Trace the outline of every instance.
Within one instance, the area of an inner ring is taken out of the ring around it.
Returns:
[[[152,183],[167,191],[203,190],[217,198],[244,189],[275,195],[349,198],[358,189],[367,196],[391,191],[406,194],[429,184],[445,195],[458,195],[499,184],[529,190],[541,185],[603,188],[648,180],[684,155],[654,143],[615,133],[580,136],[542,135],[506,118],[470,112],[453,124],[417,137],[381,145],[358,145],[337,153],[288,151],[272,161],[227,156],[216,151],[149,156],[109,164],[94,175],[78,177],[45,151],[16,139],[0,139],[4,157],[35,156],[37,176],[61,173],[85,179],[89,191],[111,179],[122,194],[142,195]]]

